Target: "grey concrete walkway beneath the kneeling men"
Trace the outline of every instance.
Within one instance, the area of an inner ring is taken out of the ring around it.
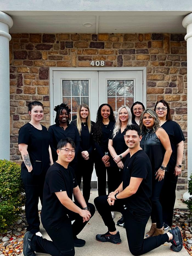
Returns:
[[[91,198],[90,202],[93,203],[94,198],[97,196],[97,191],[91,191]],[[184,191],[185,192],[185,191]],[[176,198],[176,208],[180,209],[186,209],[186,204],[183,204],[180,201],[181,195],[184,193],[183,191],[177,191],[177,198]],[[177,200],[178,199],[178,200]],[[121,214],[118,212],[115,212],[115,223],[121,218]],[[148,221],[148,224],[146,226],[146,231],[150,229],[151,221]],[[126,238],[126,231],[123,227],[117,226],[117,230],[120,232],[121,244],[112,244],[112,243],[100,243],[95,239],[96,234],[104,234],[107,232],[107,228],[104,225],[101,216],[98,214],[98,212],[95,212],[94,217],[89,221],[89,223],[85,226],[85,228],[82,230],[82,232],[78,235],[78,238],[82,238],[86,240],[85,246],[81,248],[75,248],[75,255],[85,255],[85,256],[123,256],[123,255],[132,255],[129,252],[128,242]],[[46,231],[43,229],[43,226],[41,225],[40,231],[43,234],[44,238],[47,238],[50,240],[49,236],[47,235]],[[135,237],[135,240],[137,240],[137,236]],[[153,256],[169,256],[169,255],[175,255],[175,256],[187,256],[189,255],[188,252],[183,249],[179,253],[172,252],[170,250],[169,243],[166,243],[157,249],[148,252],[145,255],[153,255]],[[37,256],[43,256],[45,254],[36,254]]]

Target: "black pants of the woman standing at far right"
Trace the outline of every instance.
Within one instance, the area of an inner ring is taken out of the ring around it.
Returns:
[[[165,181],[160,194],[160,203],[163,209],[163,222],[171,226],[173,221],[173,210],[176,199],[175,190],[178,179],[178,176],[174,175],[174,167],[169,168],[169,171],[166,173],[166,177],[164,179]],[[168,202],[166,200],[167,198],[169,199]]]

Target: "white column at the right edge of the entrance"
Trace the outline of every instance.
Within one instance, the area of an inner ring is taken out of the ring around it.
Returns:
[[[192,174],[192,13],[188,14],[182,22],[183,27],[187,28],[187,170],[188,179]],[[183,194],[183,199],[189,198],[189,193]]]

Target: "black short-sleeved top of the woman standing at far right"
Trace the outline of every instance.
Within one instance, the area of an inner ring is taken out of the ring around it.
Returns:
[[[161,126],[169,136],[172,154],[168,163],[168,170],[174,171],[177,161],[177,144],[182,140],[185,141],[185,137],[178,123],[170,120],[163,123]]]

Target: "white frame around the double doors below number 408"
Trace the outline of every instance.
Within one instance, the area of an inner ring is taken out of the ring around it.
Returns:
[[[53,120],[53,71],[143,71],[143,105],[146,106],[146,67],[50,67],[50,122]]]

